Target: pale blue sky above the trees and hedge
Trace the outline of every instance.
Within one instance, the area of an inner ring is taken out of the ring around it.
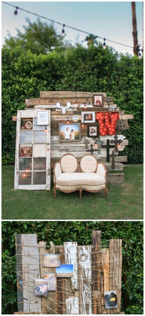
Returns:
[[[129,1],[17,1],[9,2],[20,8],[43,15],[52,20],[58,21],[88,33],[93,33],[102,38],[113,40],[128,46],[133,46],[132,37],[132,11]],[[7,30],[12,36],[16,35],[16,28],[23,31],[23,25],[27,25],[25,20],[28,17],[31,21],[36,21],[37,17],[18,10],[18,15],[14,18],[15,8],[2,3],[2,45],[4,37],[7,37]],[[42,22],[46,22],[43,18]],[[143,38],[143,6],[142,2],[136,1],[136,20],[138,31],[138,42],[142,44]],[[47,21],[48,24],[50,23]],[[58,33],[61,33],[62,26],[54,23]],[[87,34],[65,27],[66,40],[75,39],[79,35],[79,41],[83,41]],[[100,39],[103,43],[103,40]],[[133,55],[133,49],[119,44],[111,43],[106,40],[106,44],[113,46],[118,52]],[[83,42],[86,46],[87,42]],[[142,46],[141,46],[142,48]]]

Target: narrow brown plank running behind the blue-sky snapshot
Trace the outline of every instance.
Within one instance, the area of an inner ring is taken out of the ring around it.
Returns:
[[[55,254],[61,254],[61,264],[64,264],[64,246],[56,246]],[[65,314],[65,278],[57,277],[57,292],[56,292],[57,314]]]

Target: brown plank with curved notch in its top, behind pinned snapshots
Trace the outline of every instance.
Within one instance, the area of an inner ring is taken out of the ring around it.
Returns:
[[[53,244],[49,250],[46,249],[46,242],[39,242],[39,252],[40,252],[40,273],[41,278],[44,278],[45,273],[55,273],[55,268],[43,267],[43,255],[44,254],[55,254],[55,247]],[[42,314],[55,314],[56,313],[56,292],[48,291],[47,296],[42,296]]]

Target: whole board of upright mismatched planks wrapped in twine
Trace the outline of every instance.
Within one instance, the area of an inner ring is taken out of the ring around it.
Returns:
[[[18,313],[26,314],[121,314],[122,240],[101,246],[101,231],[92,231],[92,245],[46,249],[36,234],[16,235]],[[61,254],[61,264],[73,264],[73,277],[57,278],[57,290],[35,296],[36,278],[55,268],[43,267],[44,254]],[[116,290],[117,308],[105,309],[104,291]]]

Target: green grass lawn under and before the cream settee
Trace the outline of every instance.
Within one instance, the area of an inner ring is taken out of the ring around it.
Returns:
[[[2,219],[143,219],[143,165],[124,167],[125,183],[104,191],[63,193],[14,190],[14,166],[2,167]],[[112,205],[110,205],[110,203]],[[93,207],[94,206],[94,207]]]

